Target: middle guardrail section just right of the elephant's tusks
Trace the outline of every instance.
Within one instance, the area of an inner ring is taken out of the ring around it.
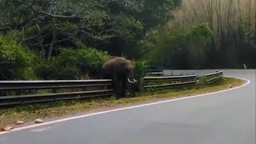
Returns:
[[[197,83],[196,75],[168,76],[168,77],[145,77],[143,78],[142,90],[168,89],[178,86],[188,86]]]

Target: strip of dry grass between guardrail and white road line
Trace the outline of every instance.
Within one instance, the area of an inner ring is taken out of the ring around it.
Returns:
[[[18,120],[33,122],[37,118],[48,119],[89,113],[98,110],[109,110],[122,106],[133,106],[140,103],[158,102],[171,98],[189,97],[197,94],[206,94],[219,90],[230,89],[230,86],[242,86],[245,81],[237,78],[222,78],[219,81],[206,84],[200,82],[195,86],[179,87],[170,90],[150,90],[138,97],[122,98],[93,98],[90,100],[74,100],[65,102],[48,102],[16,106],[0,110],[0,126],[14,126]]]

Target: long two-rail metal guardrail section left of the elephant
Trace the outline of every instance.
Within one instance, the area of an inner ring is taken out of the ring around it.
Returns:
[[[58,81],[0,81],[0,90],[57,90],[61,88],[85,88],[103,86],[100,90],[76,91],[50,94],[26,94],[15,96],[0,96],[0,106],[10,106],[24,103],[54,102],[59,100],[107,97],[113,95],[112,80],[58,80]]]

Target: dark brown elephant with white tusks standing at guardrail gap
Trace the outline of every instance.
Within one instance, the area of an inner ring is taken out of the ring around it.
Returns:
[[[112,79],[113,90],[116,98],[125,97],[126,89],[128,87],[127,82],[133,86],[138,82],[134,78],[133,62],[122,57],[114,57],[106,61],[102,65],[102,77]]]

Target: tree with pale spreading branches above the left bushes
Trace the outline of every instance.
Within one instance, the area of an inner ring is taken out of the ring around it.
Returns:
[[[82,42],[100,48],[112,38],[125,40],[142,31],[140,22],[125,18],[126,15],[113,19],[107,3],[103,4],[106,6],[92,0],[3,1],[2,29],[5,32],[18,30],[18,40],[39,50],[48,60],[58,54],[62,46],[75,48]],[[122,22],[130,27],[122,26]],[[126,28],[138,32],[132,34],[133,31]],[[122,34],[122,30],[128,32]]]

